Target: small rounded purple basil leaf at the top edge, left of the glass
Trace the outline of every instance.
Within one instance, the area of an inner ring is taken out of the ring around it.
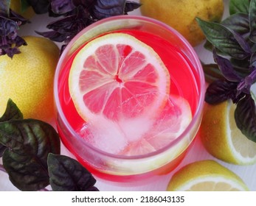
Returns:
[[[51,8],[53,13],[64,14],[75,9],[72,0],[51,0]]]

